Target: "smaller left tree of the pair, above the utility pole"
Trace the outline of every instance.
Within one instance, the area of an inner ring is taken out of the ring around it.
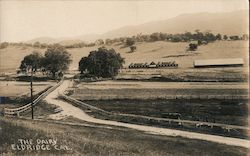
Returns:
[[[42,58],[41,53],[34,51],[32,54],[24,57],[19,68],[26,73],[29,71],[36,72],[37,69],[41,68]]]

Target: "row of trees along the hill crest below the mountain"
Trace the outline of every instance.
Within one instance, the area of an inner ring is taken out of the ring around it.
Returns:
[[[114,43],[121,43],[124,44],[125,46],[132,46],[135,42],[155,42],[155,41],[169,41],[169,42],[189,42],[193,40],[197,41],[206,41],[206,42],[213,42],[216,40],[248,40],[249,36],[247,34],[243,35],[222,35],[220,33],[214,34],[210,31],[205,31],[201,32],[200,30],[195,30],[195,32],[185,32],[185,33],[180,33],[180,34],[169,34],[169,33],[162,33],[162,32],[155,32],[151,34],[137,34],[131,37],[119,37],[119,38],[107,38],[105,40],[103,39],[98,39],[95,42],[91,43],[85,43],[85,42],[80,42],[80,43],[74,43],[74,44],[69,44],[65,45],[64,47],[66,49],[70,48],[83,48],[83,47],[93,47],[96,45],[112,45]],[[35,42],[33,44],[31,43],[9,43],[9,42],[2,42],[0,43],[0,49],[4,49],[8,47],[9,45],[13,46],[28,46],[28,47],[34,47],[34,48],[48,48],[52,44],[46,44],[46,43],[40,43],[40,42]],[[63,46],[63,45],[61,45]]]

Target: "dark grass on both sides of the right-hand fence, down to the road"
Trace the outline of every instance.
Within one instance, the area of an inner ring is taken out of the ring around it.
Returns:
[[[238,107],[239,101],[183,101],[183,100],[99,100],[84,101],[93,106],[102,108],[113,113],[126,113],[159,118],[169,118],[168,113],[180,113],[181,119],[207,121],[224,124],[235,124],[247,126],[247,105]],[[242,102],[242,101],[241,101]],[[228,104],[226,104],[228,103]],[[212,104],[212,105],[211,105]],[[214,126],[196,128],[192,124],[178,125],[177,123],[169,123],[167,121],[148,120],[131,116],[106,115],[97,111],[88,111],[85,107],[77,106],[85,110],[90,116],[104,120],[120,121],[125,123],[134,123],[139,125],[149,125],[156,127],[180,129],[185,131],[207,133],[236,138],[249,138],[248,132],[245,130],[227,131],[221,127]],[[217,108],[221,107],[222,110]],[[223,111],[221,113],[220,111]]]

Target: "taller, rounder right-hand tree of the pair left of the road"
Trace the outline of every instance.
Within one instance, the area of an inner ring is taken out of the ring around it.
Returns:
[[[42,66],[55,78],[56,74],[67,70],[71,62],[71,55],[67,50],[59,44],[54,44],[45,51]]]

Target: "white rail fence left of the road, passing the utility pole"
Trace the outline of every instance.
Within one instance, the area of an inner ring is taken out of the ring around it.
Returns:
[[[33,101],[33,106],[35,106],[40,100],[45,98],[49,93],[54,91],[57,87],[59,87],[62,84],[63,80],[61,80],[59,83],[57,83],[55,86],[51,87],[48,89],[46,92],[42,93],[39,95],[34,101]],[[20,113],[27,111],[28,109],[31,108],[31,103],[28,103],[24,106],[18,107],[18,108],[4,108],[3,113],[4,116],[19,116]]]

